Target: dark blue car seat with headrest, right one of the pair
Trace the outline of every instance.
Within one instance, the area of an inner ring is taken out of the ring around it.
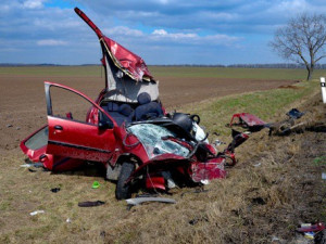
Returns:
[[[141,92],[137,97],[139,105],[135,110],[136,120],[146,120],[156,118],[163,115],[161,105],[158,102],[152,102],[151,97],[147,92]]]

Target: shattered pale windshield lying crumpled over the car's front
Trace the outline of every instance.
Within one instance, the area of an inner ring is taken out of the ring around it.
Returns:
[[[128,130],[143,144],[150,158],[164,153],[173,153],[183,157],[189,154],[189,150],[171,140],[162,140],[162,137],[175,137],[168,129],[152,125],[138,124],[130,126]]]

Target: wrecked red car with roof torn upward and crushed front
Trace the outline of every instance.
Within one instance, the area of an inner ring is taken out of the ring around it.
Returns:
[[[217,153],[199,127],[198,115],[167,114],[158,81],[141,57],[105,37],[79,10],[75,12],[97,34],[102,49],[105,88],[96,101],[63,85],[45,82],[48,125],[21,142],[32,162],[53,171],[72,170],[85,162],[100,163],[106,178],[117,180],[117,200],[130,196],[133,185],[167,190],[176,184],[223,178],[234,149],[248,138],[235,133],[233,143]],[[53,89],[85,100],[85,120],[53,108]]]

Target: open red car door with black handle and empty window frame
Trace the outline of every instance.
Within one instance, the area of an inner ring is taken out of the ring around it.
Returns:
[[[115,150],[113,130],[116,127],[116,123],[105,111],[82,92],[48,81],[45,82],[45,87],[49,126],[47,153],[71,158],[108,162]],[[101,114],[101,118],[90,119],[89,111],[80,111],[79,108],[77,114],[84,113],[84,121],[83,119],[76,119],[72,113],[68,113],[70,116],[54,115],[55,112],[58,113],[58,111],[53,111],[54,94],[52,94],[52,90],[54,88],[55,90],[64,90],[66,93],[64,97],[60,97],[58,104],[70,108],[78,108],[79,103],[77,103],[77,100],[82,99],[83,102],[88,104],[88,107],[97,111],[97,113],[91,114]],[[64,101],[74,95],[77,97],[73,100],[74,102]]]

